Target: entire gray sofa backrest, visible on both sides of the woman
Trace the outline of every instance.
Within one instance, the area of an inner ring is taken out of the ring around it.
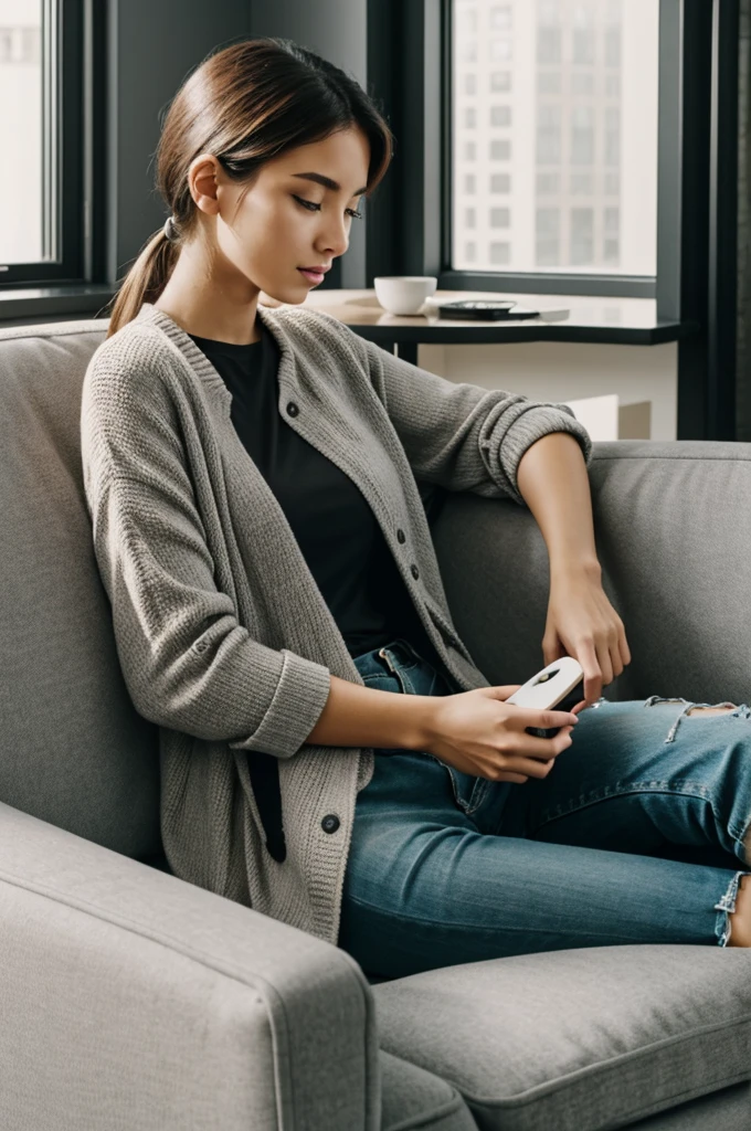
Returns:
[[[133,708],[92,547],[80,398],[105,319],[0,329],[0,802],[158,860],[158,729]],[[751,444],[622,440],[589,468],[632,663],[607,698],[751,699]],[[491,683],[542,666],[549,566],[527,508],[448,494],[432,534]]]

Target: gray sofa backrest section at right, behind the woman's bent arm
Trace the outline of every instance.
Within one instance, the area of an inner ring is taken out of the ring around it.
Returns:
[[[603,586],[631,650],[605,697],[751,702],[751,443],[596,442],[589,485]],[[550,586],[530,511],[450,495],[432,535],[473,659],[493,684],[528,680]]]

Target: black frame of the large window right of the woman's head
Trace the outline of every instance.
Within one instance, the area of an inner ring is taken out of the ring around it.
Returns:
[[[735,439],[739,0],[661,0],[655,278],[448,269],[449,27],[448,0],[368,0],[369,90],[396,141],[369,209],[364,286],[434,275],[441,291],[653,299],[658,319],[691,330],[677,340],[679,439]]]

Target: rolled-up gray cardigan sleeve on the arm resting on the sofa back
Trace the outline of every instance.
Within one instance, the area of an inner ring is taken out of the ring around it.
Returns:
[[[589,465],[592,439],[568,405],[447,381],[373,342],[360,342],[371,383],[416,480],[448,491],[507,497],[526,507],[517,470],[527,448],[541,437],[570,432]]]

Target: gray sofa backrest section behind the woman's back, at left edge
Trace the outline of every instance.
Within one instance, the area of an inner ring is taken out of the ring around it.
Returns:
[[[158,728],[118,661],[92,547],[80,400],[109,320],[0,330],[0,801],[158,855]]]

